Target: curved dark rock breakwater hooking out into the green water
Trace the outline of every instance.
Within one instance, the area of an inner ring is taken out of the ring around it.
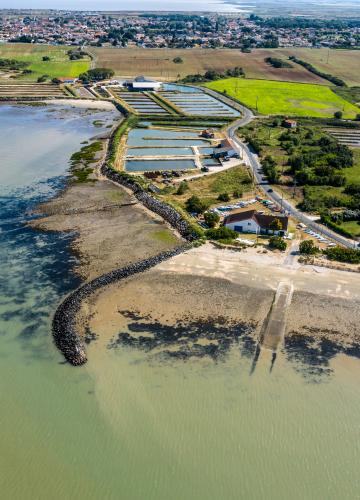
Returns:
[[[189,249],[189,245],[183,245],[174,250],[162,252],[155,257],[103,274],[85,283],[69,295],[56,310],[52,324],[55,344],[63,353],[66,360],[74,366],[83,365],[87,362],[85,345],[77,332],[76,324],[77,314],[80,311],[83,300],[87,299],[95,291],[104,286],[128,278],[134,274],[147,271],[164,260],[179,255],[187,249]]]

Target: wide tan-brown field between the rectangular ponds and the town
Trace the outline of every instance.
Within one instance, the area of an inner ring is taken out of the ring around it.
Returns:
[[[241,66],[247,78],[328,83],[297,64],[293,68],[273,68],[264,61],[266,57],[278,56],[273,49],[257,49],[251,54],[235,49],[92,48],[91,51],[97,66],[112,68],[116,75],[125,77],[145,74],[165,81],[177,80],[188,74],[205,73],[209,69],[224,71]],[[297,50],[292,53],[296,55]],[[183,63],[174,63],[175,57],[181,57]]]

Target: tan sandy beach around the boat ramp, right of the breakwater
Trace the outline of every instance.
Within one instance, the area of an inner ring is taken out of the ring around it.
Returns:
[[[191,353],[194,346],[199,349],[199,340],[221,346],[227,335],[232,339],[234,327],[256,343],[279,283],[290,283],[294,291],[285,342],[302,336],[344,348],[358,343],[358,274],[297,262],[286,265],[285,259],[280,253],[206,244],[94,295],[83,305],[81,323],[103,347],[124,343],[145,348],[148,341],[143,339],[160,332],[156,349],[168,349],[168,340],[161,339],[165,330],[173,338],[172,349],[183,349],[186,339],[186,352]]]

